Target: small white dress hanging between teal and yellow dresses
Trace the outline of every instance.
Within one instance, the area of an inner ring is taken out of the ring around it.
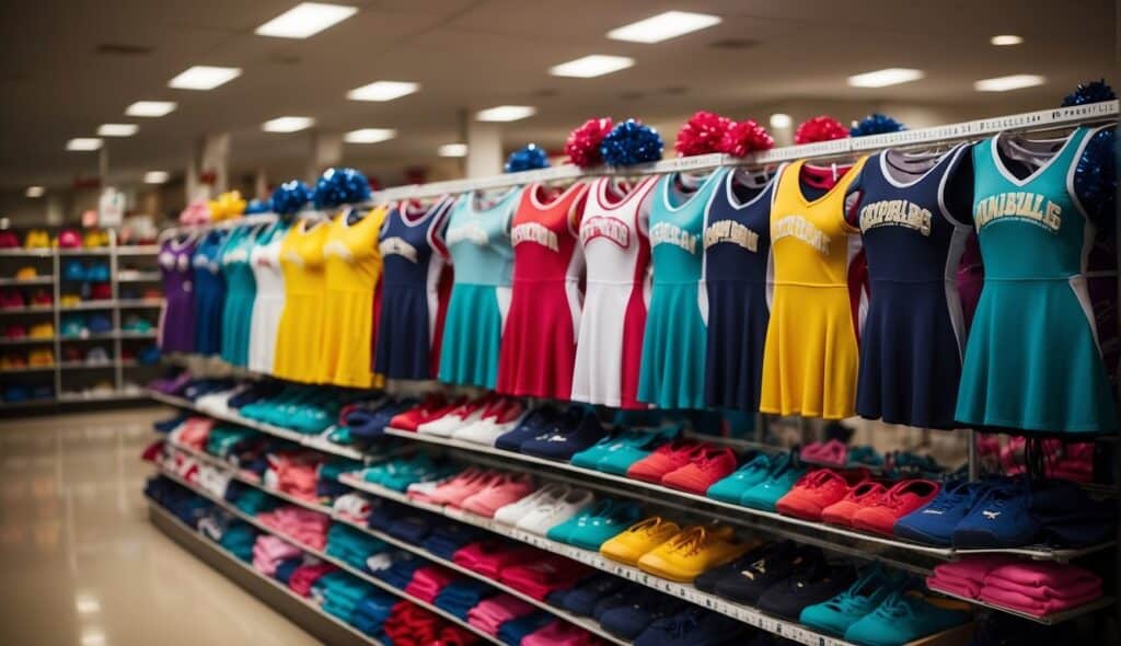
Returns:
[[[276,359],[277,330],[284,313],[284,274],[280,269],[280,244],[287,225],[277,222],[261,233],[249,252],[249,265],[257,283],[252,321],[249,325],[249,369],[272,372]]]

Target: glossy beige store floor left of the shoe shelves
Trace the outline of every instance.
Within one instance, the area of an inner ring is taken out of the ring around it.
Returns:
[[[315,644],[148,523],[168,410],[0,422],[0,644]]]

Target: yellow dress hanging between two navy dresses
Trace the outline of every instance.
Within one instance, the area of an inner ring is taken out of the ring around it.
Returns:
[[[759,410],[840,419],[855,414],[856,326],[849,298],[845,192],[864,160],[817,200],[788,165],[771,205],[772,297]],[[859,237],[852,241],[859,242]]]

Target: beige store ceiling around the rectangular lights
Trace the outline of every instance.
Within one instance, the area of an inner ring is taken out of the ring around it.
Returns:
[[[315,117],[345,131],[396,128],[398,138],[348,145],[344,163],[391,172],[432,163],[441,144],[461,140],[461,116],[503,103],[538,113],[503,127],[509,147],[556,148],[593,116],[641,117],[665,124],[667,140],[698,109],[766,119],[802,102],[836,105],[842,120],[868,105],[952,107],[974,118],[1055,105],[1080,81],[1113,77],[1117,7],[1109,0],[330,0],[360,7],[353,18],[306,40],[266,38],[253,29],[297,0],[34,0],[0,7],[0,187],[70,185],[96,174],[96,154],[67,153],[67,139],[105,122],[140,131],[110,139],[111,176],[186,167],[206,132],[232,135],[231,167],[263,167],[275,179],[300,174],[308,132],[260,130],[284,114]],[[669,10],[715,13],[723,22],[660,44],[608,39],[609,29]],[[993,47],[995,34],[1025,44]],[[106,55],[99,45],[149,49]],[[729,47],[728,45],[736,45]],[[724,46],[721,46],[724,45]],[[550,65],[587,54],[637,59],[599,79],[549,76]],[[243,75],[210,92],[167,82],[198,64]],[[926,77],[883,89],[853,89],[852,74],[917,67]],[[1043,74],[1040,87],[974,92],[978,79]],[[376,80],[421,90],[386,103],[348,101]],[[137,100],[174,100],[159,119],[127,118]],[[794,112],[794,110],[788,110]]]

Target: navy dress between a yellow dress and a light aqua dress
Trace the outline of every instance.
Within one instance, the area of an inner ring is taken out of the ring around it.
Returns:
[[[374,369],[387,379],[432,379],[439,366],[447,267],[444,227],[453,201],[389,211],[379,234],[381,313]]]

